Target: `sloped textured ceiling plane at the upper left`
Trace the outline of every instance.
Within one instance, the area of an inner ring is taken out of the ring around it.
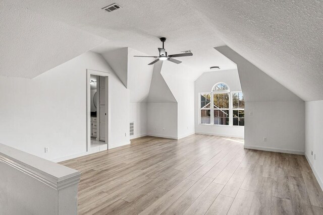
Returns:
[[[7,1],[0,14],[1,76],[34,78],[104,41]]]

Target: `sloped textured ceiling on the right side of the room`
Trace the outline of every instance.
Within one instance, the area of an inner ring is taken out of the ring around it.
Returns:
[[[241,56],[304,101],[323,100],[322,1],[188,2]]]

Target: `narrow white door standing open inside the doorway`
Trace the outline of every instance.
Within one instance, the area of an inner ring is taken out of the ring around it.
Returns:
[[[100,99],[99,99],[99,103],[100,103],[100,140],[105,141],[105,116],[106,116],[106,112],[105,112],[105,77],[99,76],[99,90],[100,90]]]

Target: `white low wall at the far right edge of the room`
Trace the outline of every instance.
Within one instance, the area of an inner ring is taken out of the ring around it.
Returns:
[[[323,101],[305,103],[305,156],[323,189]],[[311,155],[313,151],[313,155]],[[316,159],[314,160],[314,154]]]

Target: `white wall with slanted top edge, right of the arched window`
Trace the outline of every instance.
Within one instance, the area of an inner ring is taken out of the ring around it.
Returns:
[[[245,148],[303,154],[304,101],[228,46],[216,49],[237,64],[245,99]]]

